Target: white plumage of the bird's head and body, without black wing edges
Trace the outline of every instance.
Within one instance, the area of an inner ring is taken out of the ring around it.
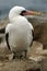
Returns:
[[[17,10],[21,12],[25,9],[20,7]],[[5,28],[5,33],[9,33],[9,45],[12,51],[20,51],[30,48],[30,45],[33,40],[33,25],[26,20],[26,17],[19,15],[17,10],[14,7],[14,9],[10,11],[10,23]]]

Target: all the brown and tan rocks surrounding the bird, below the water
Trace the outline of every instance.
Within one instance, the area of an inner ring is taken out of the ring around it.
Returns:
[[[9,60],[11,51],[8,49],[2,31],[9,23],[0,21],[0,71],[47,71],[47,20],[30,19],[34,26],[34,42],[27,52],[28,59]]]

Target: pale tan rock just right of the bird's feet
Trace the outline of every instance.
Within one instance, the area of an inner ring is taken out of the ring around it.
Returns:
[[[43,56],[39,56],[39,51],[43,50],[43,44],[38,43],[38,42],[33,42],[33,46],[31,47],[31,49],[28,50],[28,59],[35,60],[35,61],[42,61],[43,60]]]

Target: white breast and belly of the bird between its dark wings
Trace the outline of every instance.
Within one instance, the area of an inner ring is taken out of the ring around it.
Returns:
[[[16,24],[9,33],[9,44],[11,48],[15,50],[26,49],[32,40],[31,28],[26,24]]]

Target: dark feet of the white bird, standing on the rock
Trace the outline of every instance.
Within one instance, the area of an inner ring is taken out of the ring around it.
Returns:
[[[21,52],[12,52],[9,55],[9,60],[12,61],[13,59],[20,59],[20,60],[25,60],[27,57],[27,50],[21,51]]]

